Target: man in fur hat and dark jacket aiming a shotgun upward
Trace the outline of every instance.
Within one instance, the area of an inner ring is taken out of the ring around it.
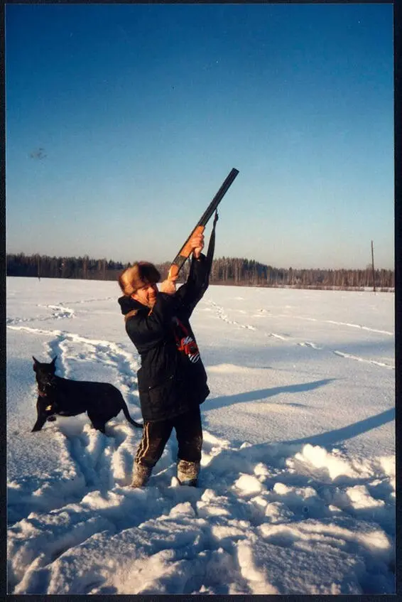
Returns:
[[[202,254],[202,234],[194,235],[190,243],[190,274],[178,291],[175,279],[163,281],[158,290],[160,274],[148,262],[135,263],[119,277],[126,332],[141,355],[137,377],[144,428],[131,487],[146,485],[173,428],[178,439],[178,480],[182,485],[197,485],[200,404],[210,389],[189,318],[207,290],[210,257]]]

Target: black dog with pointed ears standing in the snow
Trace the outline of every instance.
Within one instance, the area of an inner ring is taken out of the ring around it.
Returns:
[[[32,356],[33,357],[33,356]],[[50,364],[40,363],[33,358],[33,370],[38,383],[38,419],[33,431],[40,431],[46,420],[58,416],[77,416],[87,412],[92,426],[104,433],[104,425],[123,410],[126,419],[142,429],[143,425],[133,420],[119,389],[107,382],[67,380],[55,375],[54,358]]]

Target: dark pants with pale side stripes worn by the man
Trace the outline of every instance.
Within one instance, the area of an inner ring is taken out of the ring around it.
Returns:
[[[145,421],[135,462],[153,468],[161,458],[173,429],[178,440],[178,459],[199,462],[202,448],[200,406],[170,420]]]

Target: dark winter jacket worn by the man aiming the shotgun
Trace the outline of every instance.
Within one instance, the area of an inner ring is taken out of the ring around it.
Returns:
[[[173,295],[159,292],[152,311],[122,296],[121,313],[133,311],[126,332],[141,355],[137,372],[141,412],[146,421],[173,418],[202,404],[210,393],[189,318],[208,287],[210,265],[192,259],[188,281]]]

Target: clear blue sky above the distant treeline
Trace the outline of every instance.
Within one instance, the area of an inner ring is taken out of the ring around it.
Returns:
[[[393,268],[392,11],[7,5],[7,251]]]

